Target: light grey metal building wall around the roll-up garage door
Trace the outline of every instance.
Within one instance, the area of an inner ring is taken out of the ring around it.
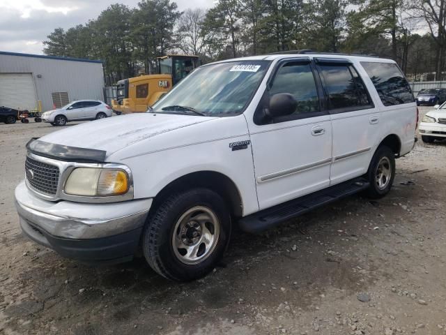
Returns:
[[[53,108],[52,92],[66,91],[70,101],[104,100],[104,72],[100,61],[0,53],[0,73],[31,73],[43,111]]]

